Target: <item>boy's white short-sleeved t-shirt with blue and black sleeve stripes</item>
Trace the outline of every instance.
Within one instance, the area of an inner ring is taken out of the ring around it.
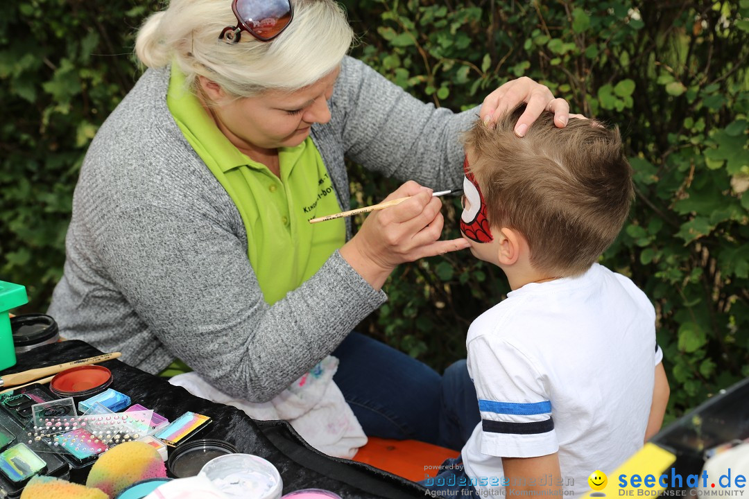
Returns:
[[[482,422],[462,456],[485,497],[506,485],[502,457],[558,451],[555,481],[580,495],[593,471],[610,473],[642,447],[663,354],[652,304],[623,275],[594,264],[526,284],[473,321],[466,343]]]

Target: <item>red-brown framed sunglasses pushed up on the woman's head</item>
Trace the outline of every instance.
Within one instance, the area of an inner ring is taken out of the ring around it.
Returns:
[[[237,25],[226,26],[219,35],[219,40],[227,43],[238,43],[242,31],[261,42],[273,40],[294,17],[291,0],[234,0],[231,10],[237,16]]]

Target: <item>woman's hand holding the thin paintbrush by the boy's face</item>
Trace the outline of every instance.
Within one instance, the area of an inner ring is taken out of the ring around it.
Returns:
[[[379,290],[400,263],[468,248],[466,239],[440,241],[444,219],[442,201],[431,189],[408,181],[385,201],[410,199],[372,212],[359,232],[341,248],[341,255],[359,274]]]

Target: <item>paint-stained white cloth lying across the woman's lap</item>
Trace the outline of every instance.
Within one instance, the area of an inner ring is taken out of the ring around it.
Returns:
[[[231,397],[208,384],[198,373],[184,373],[169,380],[196,397],[245,411],[257,420],[287,420],[302,438],[329,456],[351,459],[367,443],[362,426],[333,382],[338,359],[328,355],[270,402],[249,402]]]

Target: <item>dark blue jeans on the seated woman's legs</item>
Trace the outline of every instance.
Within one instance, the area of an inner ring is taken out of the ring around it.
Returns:
[[[465,361],[455,362],[440,376],[409,355],[356,332],[331,355],[340,360],[333,380],[369,436],[461,450],[479,423],[479,402]]]

